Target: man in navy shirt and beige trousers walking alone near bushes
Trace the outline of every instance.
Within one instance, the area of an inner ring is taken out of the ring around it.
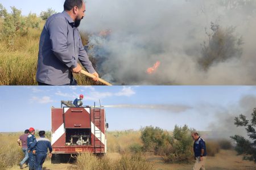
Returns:
[[[195,141],[193,150],[195,153],[196,163],[193,167],[193,170],[200,170],[200,169],[205,170],[205,159],[207,158],[206,157],[207,149],[206,149],[205,141],[196,132],[192,133],[191,137]]]

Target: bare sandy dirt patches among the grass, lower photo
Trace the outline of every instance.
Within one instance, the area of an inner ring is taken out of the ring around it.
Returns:
[[[118,153],[109,153],[107,154],[112,159],[119,159],[121,155]],[[163,162],[159,156],[147,156],[147,160],[155,163],[155,169],[158,170],[188,170],[192,169],[193,163],[191,164],[166,164]],[[226,170],[226,169],[245,169],[252,170],[256,169],[256,164],[254,162],[249,162],[242,160],[242,156],[237,156],[236,151],[226,151],[221,150],[220,153],[216,156],[208,156],[206,161],[206,167],[208,170]],[[19,169],[18,165],[11,168],[11,170]],[[23,168],[28,170],[28,168]],[[43,164],[44,170],[68,170],[68,169],[77,169],[76,164],[51,164],[50,160],[47,160]]]

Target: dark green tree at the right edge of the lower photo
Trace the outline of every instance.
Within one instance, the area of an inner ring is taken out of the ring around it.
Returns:
[[[240,114],[239,117],[234,118],[234,124],[238,126],[246,127],[247,134],[250,138],[246,139],[240,135],[234,135],[230,138],[236,141],[235,150],[238,152],[238,155],[245,154],[246,156],[243,159],[254,160],[256,162],[256,108],[253,109],[251,113],[251,120],[247,120],[246,116]]]

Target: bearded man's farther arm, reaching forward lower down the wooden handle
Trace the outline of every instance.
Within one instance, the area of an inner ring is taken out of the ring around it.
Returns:
[[[98,81],[98,73],[94,70],[92,66],[92,62],[90,62],[89,57],[84,49],[84,46],[82,45],[81,36],[79,35],[79,61],[81,62],[82,66],[84,66],[90,74],[93,74],[96,76],[94,78],[94,81]]]

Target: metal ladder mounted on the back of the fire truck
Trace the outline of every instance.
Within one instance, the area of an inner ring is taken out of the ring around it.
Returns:
[[[94,124],[94,153],[102,153],[101,151],[101,107],[93,108],[93,124]],[[100,150],[99,150],[100,149]]]

